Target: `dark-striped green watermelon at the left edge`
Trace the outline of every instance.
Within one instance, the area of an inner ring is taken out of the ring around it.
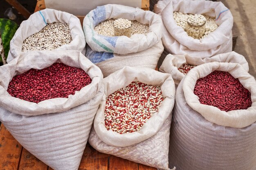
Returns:
[[[0,33],[2,37],[2,44],[4,46],[4,55],[7,58],[10,49],[10,41],[13,38],[16,30],[18,29],[18,24],[12,20],[6,18],[0,18]],[[0,57],[0,62],[2,62],[2,57]]]

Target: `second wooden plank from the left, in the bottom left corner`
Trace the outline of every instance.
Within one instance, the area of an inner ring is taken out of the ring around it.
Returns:
[[[20,157],[20,166],[19,170],[47,170],[48,166],[37,159],[34,155],[32,155],[25,148],[22,150],[22,154]]]

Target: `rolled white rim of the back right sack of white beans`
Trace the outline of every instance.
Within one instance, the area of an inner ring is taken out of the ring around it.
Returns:
[[[218,22],[221,22],[220,25],[218,24],[218,28],[201,40],[190,37],[189,35],[187,35],[186,31],[184,31],[180,26],[176,24],[173,18],[173,5],[182,4],[182,2],[184,2],[184,0],[170,1],[169,4],[167,4],[167,6],[162,11],[162,20],[166,27],[166,30],[180,44],[194,51],[205,51],[217,48],[218,46],[225,44],[229,39],[232,39],[232,34],[230,35],[230,33],[232,31],[233,24],[230,24],[228,21],[232,20],[233,23],[233,16],[231,12],[227,9],[227,7],[222,4],[222,2],[189,0],[189,3],[195,3],[198,5],[198,7],[205,7],[206,5],[204,4],[207,4],[207,6],[209,7],[209,11],[211,11],[212,9],[216,9],[217,7],[222,8],[222,11],[225,11],[225,13],[223,13],[220,18],[218,18]],[[222,11],[220,11],[220,13]],[[179,12],[184,13],[183,11]],[[165,17],[166,15],[170,17]],[[215,15],[217,18],[219,13],[216,13],[215,11]],[[216,41],[216,39],[218,41]]]

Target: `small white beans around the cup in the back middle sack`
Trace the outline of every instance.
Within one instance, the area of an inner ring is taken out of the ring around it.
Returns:
[[[103,21],[94,27],[94,31],[96,31],[97,33],[99,33],[101,35],[114,37],[115,36],[114,27],[113,27],[114,21],[115,21],[114,19]],[[141,23],[137,22],[136,20],[131,21],[131,22],[132,22],[131,35],[148,33],[148,30],[149,30],[148,25],[141,24]]]

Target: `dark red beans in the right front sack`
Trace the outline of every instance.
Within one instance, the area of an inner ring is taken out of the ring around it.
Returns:
[[[238,79],[224,71],[213,71],[206,77],[198,79],[194,94],[199,97],[201,104],[215,106],[226,112],[252,106],[251,93]]]

